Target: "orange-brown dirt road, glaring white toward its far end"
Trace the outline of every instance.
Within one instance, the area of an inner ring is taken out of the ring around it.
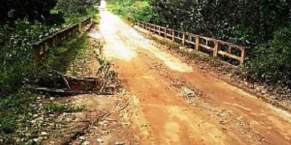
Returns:
[[[116,15],[100,13],[105,57],[140,100],[156,145],[291,145],[290,114],[195,71]],[[199,91],[204,99],[188,104],[178,85]]]

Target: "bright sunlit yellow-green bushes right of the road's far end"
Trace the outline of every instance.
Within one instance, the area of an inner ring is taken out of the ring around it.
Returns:
[[[108,9],[131,23],[137,20],[150,21],[156,18],[150,6],[151,0],[109,0]]]

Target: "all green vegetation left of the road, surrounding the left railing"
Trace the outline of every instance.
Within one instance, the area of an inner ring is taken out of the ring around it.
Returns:
[[[21,136],[15,132],[17,124],[23,123],[21,120],[30,120],[31,114],[38,109],[32,107],[37,95],[25,84],[48,75],[52,70],[63,73],[68,62],[88,46],[85,36],[74,36],[50,49],[42,59],[42,65],[35,68],[32,43],[79,23],[87,16],[92,16],[97,22],[99,16],[95,5],[98,5],[98,0],[0,2],[0,145],[16,144],[16,137]],[[29,128],[30,125],[23,123],[22,127]]]

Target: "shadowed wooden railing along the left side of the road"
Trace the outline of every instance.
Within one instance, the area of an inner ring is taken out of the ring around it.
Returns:
[[[81,21],[81,30],[84,30],[87,25],[91,25],[91,17]],[[69,28],[62,29],[61,31],[52,34],[36,43],[32,44],[32,57],[36,67],[39,66],[41,58],[51,47],[56,47],[59,43],[68,40],[73,35],[76,35],[79,30],[79,24],[75,24]]]

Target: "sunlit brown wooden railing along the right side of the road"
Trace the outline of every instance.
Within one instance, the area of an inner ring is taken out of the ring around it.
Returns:
[[[143,21],[138,21],[137,25],[142,29],[149,30],[160,36],[164,36],[165,38],[172,39],[173,42],[180,41],[183,46],[187,44],[193,44],[196,51],[201,51],[201,48],[207,49],[208,51],[212,52],[212,55],[215,58],[221,55],[228,58],[236,59],[240,62],[241,65],[244,62],[246,51],[245,47],[243,46],[239,46],[233,43],[227,43],[209,37],[195,35],[189,32],[170,29]],[[236,54],[238,55],[233,53],[233,50],[235,49],[238,50],[236,52]]]

